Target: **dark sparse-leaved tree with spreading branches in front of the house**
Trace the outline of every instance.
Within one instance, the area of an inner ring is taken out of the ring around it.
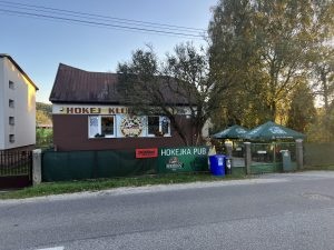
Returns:
[[[204,50],[197,51],[190,43],[179,44],[159,61],[151,48],[138,49],[129,62],[118,64],[118,73],[119,92],[134,112],[166,116],[185,144],[200,142],[204,123],[223,91],[210,80]],[[178,119],[185,112],[190,117],[194,141],[187,138],[184,121]]]

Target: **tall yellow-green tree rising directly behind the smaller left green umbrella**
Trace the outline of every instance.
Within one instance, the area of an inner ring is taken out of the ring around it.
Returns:
[[[263,80],[257,57],[259,44],[249,21],[252,13],[253,7],[245,0],[220,1],[214,10],[209,24],[210,73],[218,86],[228,90],[220,98],[219,111],[226,119],[218,114],[215,123],[225,120],[225,126],[252,127],[266,112],[257,100]]]

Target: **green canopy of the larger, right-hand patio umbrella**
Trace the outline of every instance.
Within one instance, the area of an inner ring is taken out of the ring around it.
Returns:
[[[271,141],[271,140],[285,140],[285,139],[304,139],[305,134],[295,130],[279,126],[275,122],[268,121],[258,126],[245,134],[245,139],[253,141]]]

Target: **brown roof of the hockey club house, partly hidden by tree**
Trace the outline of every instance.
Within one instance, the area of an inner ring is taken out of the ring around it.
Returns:
[[[49,100],[53,103],[105,103],[119,104],[118,74],[89,72],[60,63]],[[177,104],[189,101],[171,91],[164,90],[165,100]]]

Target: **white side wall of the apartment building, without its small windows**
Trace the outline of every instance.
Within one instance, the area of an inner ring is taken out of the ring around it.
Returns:
[[[35,144],[36,89],[8,58],[2,59],[4,70],[2,73],[4,147],[2,149]],[[14,89],[9,88],[9,80],[14,83]],[[14,101],[14,108],[9,107],[9,99]],[[14,126],[9,124],[9,117],[14,117]],[[14,134],[14,142],[9,141],[9,134]]]

